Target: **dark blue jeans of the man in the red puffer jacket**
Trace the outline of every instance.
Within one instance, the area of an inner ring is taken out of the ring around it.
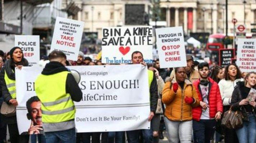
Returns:
[[[214,119],[193,120],[193,134],[195,143],[210,143],[215,132],[216,121]]]

